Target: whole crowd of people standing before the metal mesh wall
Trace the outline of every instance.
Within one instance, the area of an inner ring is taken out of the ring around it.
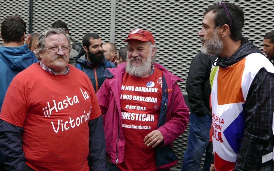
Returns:
[[[274,31],[259,50],[242,36],[244,13],[220,2],[204,12],[201,52],[178,82],[156,63],[148,30],[117,47],[87,33],[75,42],[60,20],[26,37],[1,23],[0,171],[168,171],[189,121],[182,171],[273,171]],[[190,113],[190,114],[189,114]]]

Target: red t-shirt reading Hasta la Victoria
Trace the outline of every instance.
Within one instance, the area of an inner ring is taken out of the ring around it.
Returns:
[[[67,75],[53,75],[35,63],[8,87],[0,119],[23,127],[26,164],[34,170],[89,170],[88,121],[101,111],[87,75],[69,67]]]

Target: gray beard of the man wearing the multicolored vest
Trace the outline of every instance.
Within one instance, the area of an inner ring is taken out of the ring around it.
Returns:
[[[224,50],[224,44],[218,36],[218,32],[215,31],[212,37],[204,42],[205,45],[201,45],[201,52],[208,55],[217,55]]]

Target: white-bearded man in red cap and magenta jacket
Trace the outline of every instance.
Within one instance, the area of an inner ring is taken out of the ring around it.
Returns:
[[[104,70],[96,94],[104,118],[107,170],[168,170],[177,163],[172,142],[185,131],[189,109],[182,81],[153,63],[150,31],[135,29],[128,38],[127,62]]]

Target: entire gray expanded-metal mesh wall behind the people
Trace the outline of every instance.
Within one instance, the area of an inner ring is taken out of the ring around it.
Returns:
[[[113,3],[115,2],[115,3]],[[33,2],[33,31],[41,33],[56,20],[68,25],[71,36],[82,43],[82,36],[88,32],[99,34],[103,42],[111,40],[117,47],[125,46],[122,41],[135,28],[150,30],[158,47],[158,61],[175,75],[187,79],[192,58],[200,50],[198,32],[201,29],[203,11],[213,0],[55,0]],[[245,12],[243,35],[262,49],[266,32],[274,30],[274,1],[233,0]],[[114,14],[111,4],[115,5]],[[29,1],[3,0],[0,6],[0,21],[9,15],[20,15],[28,24]],[[114,30],[111,31],[111,17]],[[28,31],[28,28],[27,28]],[[110,33],[114,35],[110,35]],[[27,33],[28,34],[28,33]],[[2,45],[2,40],[0,42]],[[180,83],[183,94],[185,83]],[[187,147],[188,130],[174,142],[180,168],[182,156]]]

